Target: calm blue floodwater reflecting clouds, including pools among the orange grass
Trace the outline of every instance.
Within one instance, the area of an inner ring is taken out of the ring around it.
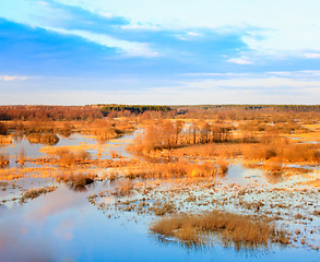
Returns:
[[[132,138],[128,135],[108,143],[117,145],[121,155],[130,156],[125,147]],[[14,147],[7,146],[5,152],[15,154],[24,147],[27,157],[43,156],[38,150],[44,145],[28,144],[26,140],[15,143]],[[93,140],[74,134],[60,139],[56,146],[80,143],[90,144]],[[232,165],[222,180],[269,182],[261,169],[247,169],[240,164]],[[274,181],[282,183],[283,178],[276,177]],[[56,191],[25,204],[0,205],[0,261],[320,261],[320,253],[307,248],[274,246],[236,250],[215,245],[195,249],[176,241],[161,241],[149,231],[153,216],[115,212],[108,217],[90,204],[88,195],[109,186],[98,181],[87,191],[78,192],[60,184]]]

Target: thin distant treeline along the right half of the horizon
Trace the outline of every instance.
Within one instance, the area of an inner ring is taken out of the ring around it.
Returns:
[[[320,112],[320,105],[195,105],[195,106],[177,106],[174,108],[185,109],[245,109],[245,110],[265,110],[273,111],[296,111],[296,112]]]

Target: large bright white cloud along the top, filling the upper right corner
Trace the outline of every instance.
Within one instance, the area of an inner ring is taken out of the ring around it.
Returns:
[[[108,11],[127,17],[132,24],[206,27],[220,32],[250,28],[242,40],[250,49],[268,56],[304,56],[305,50],[312,52],[320,47],[319,0],[59,1],[96,13]]]

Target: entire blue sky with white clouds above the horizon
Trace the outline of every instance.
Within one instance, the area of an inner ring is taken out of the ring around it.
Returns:
[[[0,0],[0,105],[319,104],[319,0]]]

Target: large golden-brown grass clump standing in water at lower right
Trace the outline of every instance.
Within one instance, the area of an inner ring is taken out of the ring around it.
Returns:
[[[289,242],[287,233],[277,230],[266,219],[221,211],[163,217],[153,223],[150,229],[154,234],[175,237],[187,246],[210,245],[213,236],[217,236],[224,245],[234,245],[237,249]]]

